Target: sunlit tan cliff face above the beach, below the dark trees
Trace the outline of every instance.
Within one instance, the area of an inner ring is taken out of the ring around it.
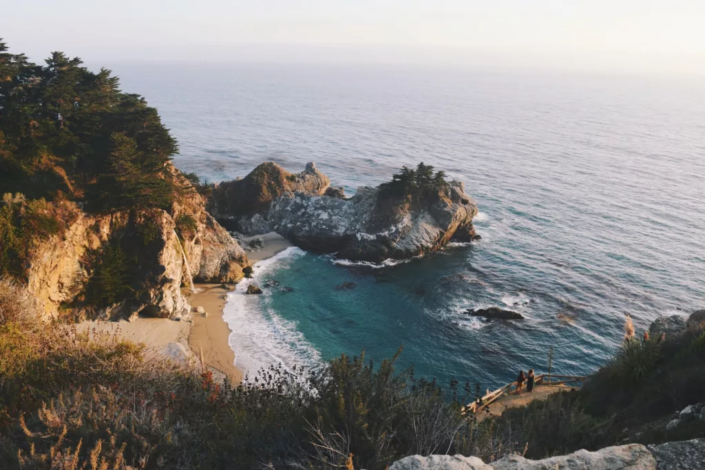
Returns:
[[[243,249],[207,214],[190,183],[171,171],[184,192],[170,212],[95,215],[62,203],[72,213],[66,230],[39,242],[27,268],[27,289],[45,317],[67,311],[99,319],[185,314],[190,306],[181,292],[189,285],[184,254],[197,280],[243,277],[248,264]]]

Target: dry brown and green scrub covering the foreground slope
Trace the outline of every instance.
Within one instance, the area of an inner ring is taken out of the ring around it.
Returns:
[[[705,333],[656,341],[625,340],[582,390],[478,422],[464,412],[470,383],[442,387],[399,371],[396,357],[343,354],[317,371],[271,366],[231,384],[144,345],[47,327],[4,279],[0,466],[385,469],[409,454],[491,461],[703,437],[701,424],[663,420],[705,392]]]

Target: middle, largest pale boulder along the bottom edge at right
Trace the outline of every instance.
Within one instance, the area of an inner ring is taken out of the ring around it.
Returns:
[[[656,470],[656,459],[643,445],[627,444],[595,452],[582,449],[542,460],[512,455],[492,462],[491,466],[494,470]]]

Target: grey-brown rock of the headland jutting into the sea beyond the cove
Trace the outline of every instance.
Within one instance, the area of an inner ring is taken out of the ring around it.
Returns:
[[[288,175],[263,163],[243,180],[214,188],[208,208],[247,235],[275,231],[303,249],[361,261],[407,259],[476,236],[477,205],[458,181],[417,198],[393,197],[381,185],[359,187],[346,199],[313,163],[296,178]]]

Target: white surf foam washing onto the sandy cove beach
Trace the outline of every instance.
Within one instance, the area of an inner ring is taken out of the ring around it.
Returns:
[[[269,292],[247,295],[247,286],[259,284],[278,268],[282,268],[305,254],[302,249],[291,247],[275,256],[258,261],[251,279],[243,279],[223,309],[223,320],[232,333],[228,344],[235,352],[235,366],[245,373],[256,373],[269,365],[291,369],[293,365],[307,369],[321,366],[321,356],[316,348],[296,328],[296,323],[278,315],[270,307]]]

